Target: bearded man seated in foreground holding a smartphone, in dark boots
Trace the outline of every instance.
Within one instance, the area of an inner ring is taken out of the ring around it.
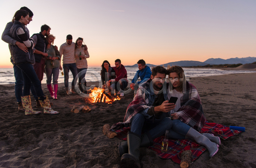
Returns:
[[[164,67],[152,68],[151,78],[139,86],[134,100],[129,104],[124,122],[112,126],[114,130],[131,126],[127,142],[119,144],[122,167],[140,168],[140,147],[153,145],[154,138],[172,127],[168,112],[176,105],[168,103],[165,78]]]

